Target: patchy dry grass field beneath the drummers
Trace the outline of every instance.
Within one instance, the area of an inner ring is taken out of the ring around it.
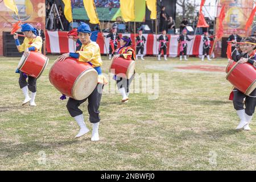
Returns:
[[[0,169],[1,170],[255,170],[256,126],[236,131],[238,117],[228,100],[232,86],[225,72],[175,69],[183,65],[218,65],[190,61],[137,61],[137,73],[159,74],[159,97],[104,93],[101,101],[100,141],[90,134],[75,139],[77,123],[68,114],[67,100],[49,83],[50,62],[38,80],[36,107],[21,106],[18,57],[0,57]],[[108,73],[106,57],[103,71]],[[87,104],[80,106],[88,122]]]

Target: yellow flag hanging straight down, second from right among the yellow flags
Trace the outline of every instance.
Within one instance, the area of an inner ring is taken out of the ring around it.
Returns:
[[[134,0],[120,0],[120,9],[125,22],[135,20]]]

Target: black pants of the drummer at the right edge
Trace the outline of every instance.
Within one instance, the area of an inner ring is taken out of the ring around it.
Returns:
[[[234,89],[237,90],[237,89]],[[256,89],[253,90],[253,92],[250,94],[249,97],[240,92],[239,90],[233,91],[234,93],[234,98],[233,98],[233,105],[234,109],[236,110],[242,110],[243,108],[243,98],[245,98],[245,113],[247,115],[253,115],[255,111],[255,106],[256,106]]]

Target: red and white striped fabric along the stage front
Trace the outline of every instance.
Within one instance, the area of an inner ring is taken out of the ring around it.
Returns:
[[[108,33],[104,33],[104,35],[108,35]],[[129,36],[133,41],[132,47],[134,46],[134,34],[119,34],[122,36]],[[137,36],[137,35],[136,35]],[[158,46],[159,42],[157,38],[160,35],[154,34],[143,34],[146,38],[146,45],[144,46],[144,55],[157,55],[158,54]],[[177,39],[179,35],[167,35],[169,38],[169,42],[167,43],[167,55],[170,57],[176,57],[179,55],[179,43]],[[203,35],[188,35],[189,38],[193,38],[195,40],[188,41],[188,55],[202,55],[203,54]],[[106,54],[109,53],[109,40],[110,38],[105,39],[99,32],[97,43],[100,46],[101,53]],[[67,32],[60,31],[46,31],[46,49],[48,53],[65,53],[65,52],[75,52],[76,44],[72,39],[67,38]],[[193,46],[192,46],[193,44]],[[211,42],[211,45],[213,42]]]

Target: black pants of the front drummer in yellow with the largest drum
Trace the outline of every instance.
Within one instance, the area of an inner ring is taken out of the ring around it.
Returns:
[[[100,103],[101,103],[103,87],[104,87],[103,84],[97,84],[96,88],[93,90],[90,96],[88,96],[87,98],[81,101],[75,100],[73,98],[69,98],[67,103],[67,109],[69,114],[72,117],[81,115],[82,111],[79,109],[79,106],[88,99],[88,113],[90,115],[89,121],[91,123],[99,122],[101,118],[100,118],[100,111],[98,110],[98,108],[100,107]]]

